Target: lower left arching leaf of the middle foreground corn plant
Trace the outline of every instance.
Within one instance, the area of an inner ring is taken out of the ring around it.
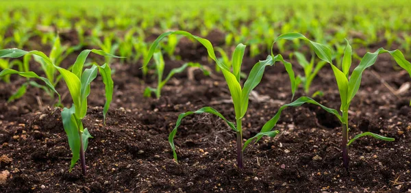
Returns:
[[[174,156],[175,162],[177,162],[177,153],[175,152],[174,137],[175,137],[175,134],[177,133],[177,128],[179,127],[179,125],[182,124],[181,122],[182,122],[182,119],[184,117],[186,117],[190,114],[202,114],[202,113],[209,113],[209,114],[214,114],[216,116],[219,116],[220,118],[225,120],[225,123],[227,123],[227,125],[230,128],[232,128],[234,131],[237,131],[236,126],[234,125],[234,123],[229,122],[227,119],[225,119],[225,117],[222,114],[217,112],[217,110],[214,110],[212,107],[202,107],[201,109],[199,109],[195,112],[185,112],[185,113],[179,114],[177,122],[175,123],[175,127],[169,135],[169,143],[171,145],[171,149],[173,149],[173,156]]]

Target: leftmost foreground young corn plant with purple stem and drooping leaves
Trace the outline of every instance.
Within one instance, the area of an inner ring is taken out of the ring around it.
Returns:
[[[21,57],[23,55],[32,54],[38,57],[41,57],[42,60],[49,66],[53,66],[59,73],[62,75],[62,78],[66,82],[66,86],[69,88],[71,98],[73,99],[73,105],[71,108],[64,107],[62,111],[62,122],[64,131],[66,131],[67,138],[69,140],[69,146],[73,157],[71,158],[70,171],[75,166],[75,163],[80,159],[82,165],[82,173],[86,175],[86,157],[84,152],[88,146],[88,139],[92,138],[87,128],[84,128],[82,119],[86,116],[87,113],[87,97],[90,94],[90,83],[97,77],[97,70],[99,71],[103,83],[105,84],[105,105],[103,107],[103,118],[108,112],[110,103],[112,101],[113,87],[114,83],[111,77],[111,68],[108,64],[103,64],[102,66],[93,65],[91,68],[88,68],[83,71],[84,63],[88,55],[92,53],[97,53],[105,57],[116,57],[110,55],[101,50],[84,50],[79,54],[73,68],[71,70],[66,70],[57,66],[53,63],[50,57],[47,57],[44,53],[40,51],[23,51],[20,49],[5,49],[0,50],[0,57]],[[5,69],[1,71],[0,77],[4,75],[18,74],[23,77],[29,78],[38,78],[46,83],[46,85],[55,91],[53,84],[49,79],[45,77],[39,77],[36,73],[33,72],[18,72],[17,70]],[[60,94],[59,101],[60,101]],[[105,123],[105,122],[104,122]]]

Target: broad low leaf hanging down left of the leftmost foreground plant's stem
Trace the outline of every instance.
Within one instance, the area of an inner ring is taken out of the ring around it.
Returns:
[[[80,158],[80,136],[79,136],[79,125],[77,125],[77,120],[75,119],[75,106],[72,105],[70,109],[64,107],[62,111],[62,121],[64,131],[66,131],[67,139],[69,140],[69,146],[73,157],[71,157],[70,171],[75,166],[75,163]]]

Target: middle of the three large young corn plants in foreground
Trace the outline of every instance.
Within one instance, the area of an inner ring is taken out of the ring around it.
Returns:
[[[171,131],[169,135],[169,143],[171,145],[171,149],[173,150],[173,157],[175,161],[177,162],[177,153],[175,151],[175,144],[174,144],[174,138],[177,133],[177,129],[179,125],[181,125],[181,121],[184,117],[190,115],[190,114],[202,114],[202,113],[209,113],[209,114],[214,114],[216,116],[219,116],[225,122],[229,127],[236,132],[237,136],[237,164],[239,168],[243,168],[243,151],[246,148],[246,146],[249,144],[249,142],[245,143],[244,145],[242,144],[242,118],[245,116],[249,104],[249,94],[251,90],[256,88],[258,86],[258,83],[260,83],[262,79],[262,75],[264,73],[264,69],[266,66],[273,66],[273,64],[277,61],[281,61],[284,63],[286,66],[286,70],[290,75],[290,81],[292,85],[292,93],[294,94],[295,92],[295,77],[294,77],[294,72],[292,71],[292,66],[289,62],[285,62],[282,58],[281,55],[276,55],[273,57],[272,55],[269,55],[266,60],[262,60],[258,62],[256,65],[253,66],[251,69],[251,72],[249,73],[249,76],[247,80],[244,83],[244,86],[240,85],[240,67],[242,63],[242,57],[244,56],[245,53],[245,45],[244,44],[238,44],[236,49],[234,50],[233,57],[231,64],[232,66],[229,68],[227,67],[227,64],[224,64],[221,62],[221,60],[217,60],[216,55],[214,53],[214,48],[212,47],[212,44],[209,40],[206,40],[204,38],[200,38],[198,36],[193,36],[192,34],[186,32],[186,31],[169,31],[165,32],[164,34],[161,34],[151,45],[149,55],[146,57],[146,60],[144,62],[144,65],[146,66],[151,59],[153,53],[155,52],[155,49],[157,49],[158,44],[160,40],[162,40],[164,37],[169,36],[169,35],[183,35],[186,36],[187,38],[191,38],[193,40],[197,40],[201,44],[203,44],[204,47],[206,47],[208,51],[208,56],[216,62],[216,64],[221,68],[221,72],[223,73],[223,76],[225,77],[225,81],[227,82],[227,86],[229,88],[229,92],[232,96],[232,101],[234,104],[234,112],[236,115],[236,124],[230,122],[227,120],[222,114],[220,114],[217,110],[214,110],[212,107],[203,107],[200,110],[197,110],[195,112],[185,112],[182,113],[178,116],[177,122],[175,123],[175,127],[173,131]],[[258,133],[256,136],[253,138],[250,138],[249,140],[253,140],[255,138],[260,138],[262,136],[269,136],[269,137],[275,137],[279,133],[279,131],[267,131],[264,133]]]

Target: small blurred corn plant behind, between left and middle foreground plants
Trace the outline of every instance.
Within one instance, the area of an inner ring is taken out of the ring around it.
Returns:
[[[169,75],[167,75],[167,77],[163,80],[162,75],[164,73],[164,59],[162,57],[162,53],[158,51],[153,54],[153,57],[155,60],[155,70],[157,71],[158,85],[157,88],[147,87],[144,91],[144,97],[151,97],[151,92],[154,92],[155,97],[157,99],[160,99],[161,90],[169,81],[169,79],[171,79],[171,77],[173,77],[173,75],[175,75],[176,73],[182,73],[188,67],[200,68],[201,70],[203,70],[204,75],[210,75],[210,72],[204,69],[203,65],[195,62],[187,62],[186,64],[183,64],[183,66],[171,70]]]

